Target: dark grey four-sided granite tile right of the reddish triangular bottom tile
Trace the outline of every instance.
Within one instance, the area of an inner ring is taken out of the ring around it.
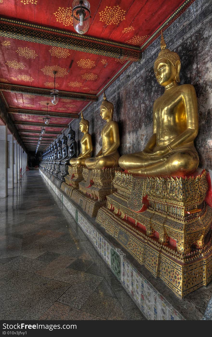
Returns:
[[[107,319],[112,312],[117,299],[99,293],[92,293],[81,307],[82,311],[89,312],[95,316],[102,316]]]

